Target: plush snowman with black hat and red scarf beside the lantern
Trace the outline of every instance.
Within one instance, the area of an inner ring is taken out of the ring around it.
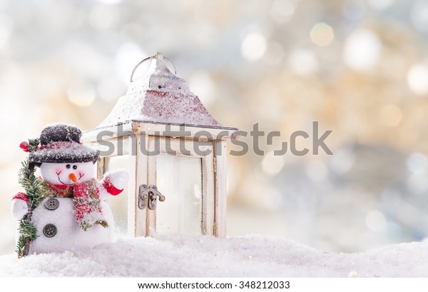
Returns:
[[[98,150],[82,145],[80,138],[76,126],[49,125],[41,131],[39,148],[29,153],[30,165],[40,168],[41,201],[30,210],[29,197],[18,193],[11,206],[16,220],[31,214],[36,226],[37,237],[29,244],[29,253],[90,248],[113,241],[113,214],[104,200],[123,191],[128,173],[108,172],[97,181],[93,164]],[[19,236],[17,231],[17,241]]]

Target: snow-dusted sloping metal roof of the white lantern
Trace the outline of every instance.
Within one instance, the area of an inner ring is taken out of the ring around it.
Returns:
[[[152,61],[146,74],[132,80],[136,68],[149,59]],[[166,64],[170,61],[168,58],[156,53],[143,61],[132,72],[126,95],[118,99],[111,113],[97,128],[127,121],[222,127],[198,96],[190,91],[186,81],[171,73]]]

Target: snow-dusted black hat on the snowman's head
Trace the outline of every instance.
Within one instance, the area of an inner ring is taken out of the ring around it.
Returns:
[[[41,146],[29,153],[30,163],[96,162],[99,151],[80,143],[81,130],[68,124],[46,126],[40,134]]]

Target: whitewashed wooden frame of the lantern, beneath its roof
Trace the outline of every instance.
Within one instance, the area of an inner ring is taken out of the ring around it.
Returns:
[[[189,131],[191,133],[190,136],[159,135],[160,133],[165,133],[166,126],[159,123],[129,121],[121,124],[120,132],[117,130],[117,126],[86,131],[83,133],[82,141],[85,141],[88,146],[100,148],[97,136],[102,131],[113,133],[113,135],[103,138],[114,145],[115,151],[109,156],[100,156],[98,158],[96,164],[98,179],[101,179],[103,173],[106,172],[106,158],[131,154],[128,168],[130,171],[128,184],[128,236],[151,236],[153,231],[156,230],[156,209],[150,210],[146,208],[146,210],[141,210],[138,208],[139,187],[142,184],[147,186],[156,184],[156,156],[144,155],[141,151],[141,143],[145,144],[143,145],[146,147],[145,149],[153,151],[153,143],[158,139],[160,141],[160,152],[169,154],[165,150],[165,139],[169,139],[171,148],[176,151],[175,155],[178,156],[189,156],[180,152],[179,143],[185,143],[190,146],[186,146],[186,150],[190,151],[190,156],[201,158],[202,161],[203,223],[201,234],[224,237],[226,234],[225,211],[227,203],[227,141],[231,136],[235,135],[237,129],[185,126],[185,131]],[[168,127],[170,132],[178,132],[183,129],[183,125],[168,125]],[[205,131],[211,137],[195,138],[195,134],[198,131]],[[126,135],[123,136],[120,133],[126,133]],[[142,136],[143,139],[141,139]],[[210,150],[210,154],[203,156],[195,153],[193,151],[195,145],[201,151]],[[137,151],[135,151],[136,149]],[[162,190],[159,191],[162,192]],[[158,202],[157,208],[162,208],[162,204]]]

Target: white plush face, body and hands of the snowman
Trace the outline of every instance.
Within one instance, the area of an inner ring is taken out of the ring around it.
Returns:
[[[73,169],[74,167],[74,169]],[[41,176],[44,181],[52,184],[73,185],[70,173],[76,173],[79,178],[76,183],[83,183],[93,178],[93,163],[42,163]],[[108,224],[103,227],[100,224],[94,224],[86,231],[79,226],[76,221],[75,206],[72,198],[51,197],[44,198],[37,206],[32,215],[31,221],[37,228],[38,237],[30,243],[30,253],[48,253],[73,250],[77,248],[91,248],[101,243],[113,241],[114,221],[113,214],[108,204],[103,201],[110,197],[109,189],[106,188],[108,179],[110,186],[115,186],[121,190],[128,181],[126,171],[115,171],[106,173],[103,180],[97,183],[101,199],[101,214],[103,221]],[[55,201],[55,207],[49,207],[49,199]],[[26,202],[19,198],[12,201],[12,214],[19,220],[28,211]],[[46,229],[46,226],[51,228]],[[54,227],[52,227],[54,226]],[[16,232],[16,239],[19,238],[19,231]]]

